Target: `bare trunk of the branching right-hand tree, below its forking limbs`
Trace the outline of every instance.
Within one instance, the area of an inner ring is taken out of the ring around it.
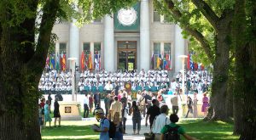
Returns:
[[[228,120],[225,103],[230,64],[230,21],[221,20],[217,33],[216,56],[213,63],[212,97],[210,98],[213,109],[211,120]]]

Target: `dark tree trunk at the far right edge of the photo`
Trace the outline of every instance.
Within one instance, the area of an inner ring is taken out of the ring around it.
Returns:
[[[256,3],[236,0],[233,25],[235,53],[235,133],[256,137]]]

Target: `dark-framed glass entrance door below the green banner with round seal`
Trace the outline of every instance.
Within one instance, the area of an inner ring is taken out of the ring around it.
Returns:
[[[137,70],[137,42],[118,41],[118,70]]]

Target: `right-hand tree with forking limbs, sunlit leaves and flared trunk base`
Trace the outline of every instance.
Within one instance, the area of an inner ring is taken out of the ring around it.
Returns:
[[[183,31],[195,37],[213,64],[211,120],[228,120],[225,100],[230,64],[230,25],[234,12],[233,1],[225,2],[225,5],[218,5],[218,0],[154,0],[162,13],[169,15]]]

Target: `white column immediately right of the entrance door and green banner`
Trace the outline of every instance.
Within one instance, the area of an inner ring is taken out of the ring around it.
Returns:
[[[148,0],[141,0],[140,20],[140,70],[150,69],[150,43],[149,43],[149,10]]]

